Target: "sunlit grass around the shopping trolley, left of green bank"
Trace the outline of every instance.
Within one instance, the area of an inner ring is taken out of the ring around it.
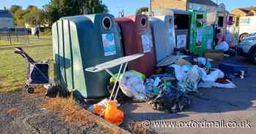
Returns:
[[[0,48],[0,92],[19,90],[26,80],[26,60],[13,52]],[[53,75],[52,46],[25,47],[24,51],[34,60],[50,60],[50,76]]]

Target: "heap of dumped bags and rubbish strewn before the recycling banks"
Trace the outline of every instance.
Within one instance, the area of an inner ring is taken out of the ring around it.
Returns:
[[[115,108],[112,109],[112,114],[116,113],[115,116],[118,116],[117,120],[112,122],[120,125],[124,115],[117,107],[126,103],[126,100],[148,102],[154,110],[176,113],[189,108],[192,104],[189,94],[199,92],[199,87],[236,88],[222,70],[211,67],[211,61],[207,58],[176,56],[162,60],[158,64],[157,73],[147,79],[138,71],[127,71],[120,76],[116,74],[116,77],[121,78],[121,82],[118,82],[121,90],[116,96],[117,103],[108,104],[108,99],[105,99],[89,109],[104,117],[107,115],[106,109],[112,106]],[[111,78],[109,84],[115,82],[116,80]]]

